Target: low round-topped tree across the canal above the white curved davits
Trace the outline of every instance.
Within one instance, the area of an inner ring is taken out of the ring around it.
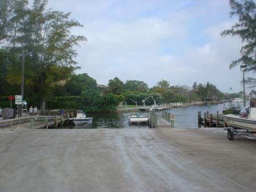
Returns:
[[[123,87],[125,91],[139,91],[146,93],[148,90],[148,85],[145,82],[137,80],[127,80]]]

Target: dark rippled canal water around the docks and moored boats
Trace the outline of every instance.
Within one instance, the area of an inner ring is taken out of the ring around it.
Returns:
[[[226,103],[228,106],[229,103]],[[175,115],[175,127],[197,127],[197,112],[209,111],[209,113],[216,114],[217,111],[222,113],[223,104],[219,105],[199,105],[199,106],[189,106],[182,108],[172,108],[168,110],[171,114]],[[142,115],[149,115],[148,112],[137,112]],[[90,124],[68,124],[64,128],[146,128],[146,124],[129,125],[128,116],[131,114],[136,114],[136,112],[127,113],[89,113],[86,114],[88,117],[93,118],[93,122]],[[157,114],[162,115],[162,111],[158,111]]]

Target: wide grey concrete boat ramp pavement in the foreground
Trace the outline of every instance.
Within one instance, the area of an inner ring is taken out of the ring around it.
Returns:
[[[224,132],[0,130],[1,192],[255,189],[256,140]]]

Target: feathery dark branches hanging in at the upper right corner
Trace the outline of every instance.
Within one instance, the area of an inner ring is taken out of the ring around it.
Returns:
[[[256,5],[253,0],[229,0],[230,16],[237,15],[239,22],[229,30],[221,33],[222,36],[239,36],[245,45],[241,48],[241,58],[229,65],[230,69],[238,64],[247,65],[247,71],[256,72]],[[256,86],[255,78],[248,78],[247,83]]]

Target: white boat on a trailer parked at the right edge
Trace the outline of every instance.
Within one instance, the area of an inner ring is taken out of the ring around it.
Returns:
[[[228,131],[228,139],[234,140],[235,135],[255,136],[256,133],[256,97],[249,98],[249,111],[247,117],[241,118],[241,115],[228,114],[224,115],[225,127]]]

